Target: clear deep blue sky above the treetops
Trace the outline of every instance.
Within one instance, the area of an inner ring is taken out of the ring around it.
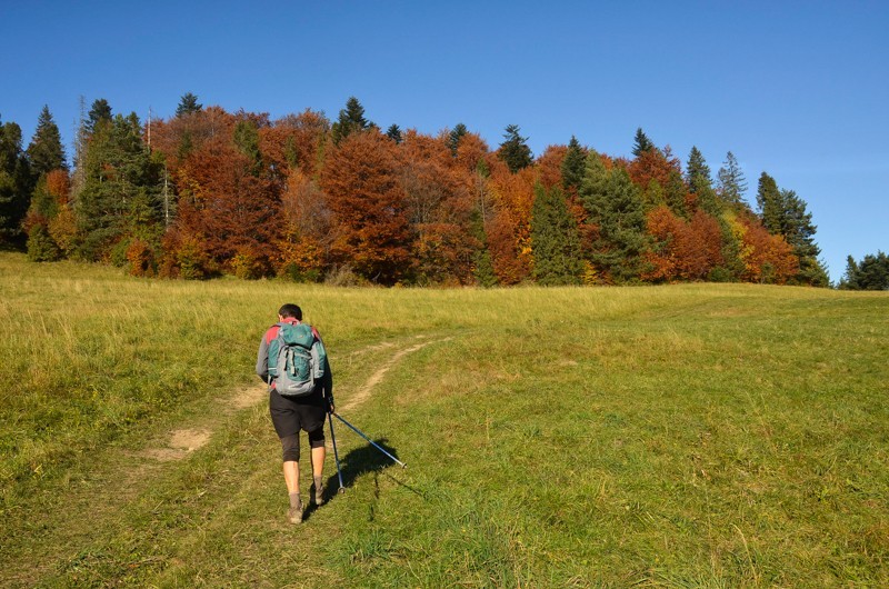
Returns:
[[[79,97],[160,117],[204,106],[386,128],[463,122],[492,148],[628,156],[637,127],[683,164],[731,150],[808,202],[832,280],[889,250],[889,2],[13,2],[0,117],[26,143],[48,104],[71,152]]]

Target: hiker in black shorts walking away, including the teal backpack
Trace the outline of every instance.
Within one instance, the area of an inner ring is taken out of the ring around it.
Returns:
[[[293,345],[300,335],[303,341],[297,343],[302,348]],[[270,351],[272,358],[269,357]],[[286,370],[287,367],[282,366],[297,365],[299,368],[300,355],[302,358],[310,356],[310,359],[306,360],[308,363],[304,369],[310,373],[301,388],[293,385],[299,377],[294,378]],[[296,362],[292,361],[293,358],[297,358]],[[274,431],[281,440],[284,482],[287,492],[290,493],[288,518],[292,523],[299,523],[302,521],[302,500],[299,493],[299,430],[308,433],[311,448],[313,481],[309,490],[310,503],[320,506],[324,502],[324,483],[321,478],[326,453],[324,417],[328,411],[333,412],[333,379],[321,336],[313,327],[302,323],[302,309],[298,306],[291,303],[282,306],[278,310],[278,323],[270,327],[262,336],[257,356],[257,375],[269,385],[269,412]],[[296,395],[289,393],[296,389],[299,389]]]

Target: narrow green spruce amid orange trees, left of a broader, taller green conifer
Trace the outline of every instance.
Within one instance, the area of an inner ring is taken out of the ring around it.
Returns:
[[[577,221],[568,211],[565,194],[558,188],[535,188],[531,209],[531,254],[533,277],[543,286],[580,284],[583,261]]]

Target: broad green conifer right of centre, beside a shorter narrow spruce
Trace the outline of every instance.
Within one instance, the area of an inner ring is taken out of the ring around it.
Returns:
[[[608,171],[595,150],[587,157],[580,199],[595,231],[590,244],[593,266],[615,282],[637,280],[645,270],[649,247],[645,201],[626,170]]]

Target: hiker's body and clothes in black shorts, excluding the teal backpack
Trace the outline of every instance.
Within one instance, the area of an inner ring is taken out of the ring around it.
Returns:
[[[324,418],[327,412],[333,412],[333,378],[330,373],[330,362],[321,341],[321,336],[311,328],[311,356],[322,366],[317,367],[323,372],[320,379],[313,379],[310,392],[300,396],[281,395],[276,387],[276,370],[269,370],[269,349],[278,339],[279,332],[286,325],[299,326],[302,323],[302,309],[297,305],[287,303],[278,310],[278,322],[270,327],[259,342],[257,355],[257,375],[269,385],[269,412],[274,431],[281,440],[284,482],[290,495],[288,519],[292,523],[302,521],[302,499],[299,489],[299,431],[303,430],[309,437],[312,486],[309,489],[310,503],[321,506],[324,502]],[[320,352],[320,353],[319,353]],[[283,356],[283,355],[281,355]],[[278,359],[272,359],[272,365],[278,367]],[[309,377],[310,379],[313,377]]]

